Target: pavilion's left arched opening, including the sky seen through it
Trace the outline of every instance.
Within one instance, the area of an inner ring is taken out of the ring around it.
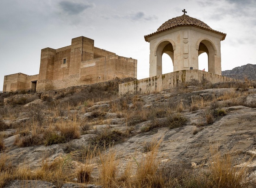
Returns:
[[[161,42],[156,50],[156,73],[157,75],[173,72],[174,70],[174,47],[170,41]],[[164,68],[164,71],[163,71]]]

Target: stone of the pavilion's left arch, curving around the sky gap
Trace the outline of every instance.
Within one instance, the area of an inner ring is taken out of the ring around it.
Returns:
[[[161,40],[156,45],[154,55],[156,56],[156,75],[162,74],[162,55],[166,53],[171,57],[172,63],[174,65],[174,51],[175,51],[175,43],[170,39]]]

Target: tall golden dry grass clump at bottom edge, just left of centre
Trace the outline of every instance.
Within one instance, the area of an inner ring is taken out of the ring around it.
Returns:
[[[105,152],[99,154],[99,157],[102,164],[99,170],[100,183],[104,188],[113,188],[119,164],[119,161],[116,160],[116,152],[111,148],[106,152],[105,149]]]

